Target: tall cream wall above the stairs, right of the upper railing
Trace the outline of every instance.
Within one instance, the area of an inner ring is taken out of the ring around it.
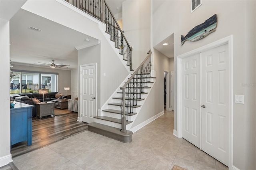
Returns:
[[[132,46],[132,64],[136,70],[150,49],[150,0],[123,2],[124,35]]]

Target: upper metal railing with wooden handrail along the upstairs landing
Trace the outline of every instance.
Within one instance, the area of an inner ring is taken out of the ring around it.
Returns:
[[[105,0],[72,0],[70,4],[89,14],[90,16],[106,24],[106,32],[110,34],[110,40],[116,43],[116,48],[120,49],[120,55],[127,61],[132,70],[132,47],[124,36],[118,22],[114,18]]]

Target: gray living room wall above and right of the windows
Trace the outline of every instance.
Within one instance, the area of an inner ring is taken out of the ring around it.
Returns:
[[[66,90],[64,90],[64,87],[70,87],[70,90],[68,91],[68,94],[71,94],[72,88],[71,88],[71,71],[70,70],[62,70],[62,69],[51,69],[48,67],[33,67],[26,66],[26,65],[17,65],[12,64],[13,68],[15,70],[23,70],[26,71],[41,71],[45,73],[58,73],[58,92],[62,93],[63,95],[66,94]]]

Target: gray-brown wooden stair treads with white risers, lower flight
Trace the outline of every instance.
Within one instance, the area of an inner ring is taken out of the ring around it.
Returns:
[[[134,78],[138,79],[138,78]],[[143,77],[141,78],[143,79]],[[132,142],[132,131],[130,131],[132,124],[134,120],[136,119],[137,114],[139,114],[139,111],[148,96],[148,92],[150,91],[150,88],[153,86],[155,77],[150,77],[150,81],[146,82],[147,87],[144,87],[144,91],[140,92],[140,99],[132,99],[136,100],[137,105],[131,105],[133,108],[132,113],[125,112],[127,115],[127,121],[126,121],[126,132],[122,132],[120,130],[121,127],[121,119],[122,119],[122,113],[121,113],[121,100],[122,100],[122,93],[117,92],[116,97],[112,97],[112,100],[114,102],[108,103],[108,109],[102,110],[101,116],[94,117],[94,123],[88,124],[88,130],[119,140],[121,142]],[[149,86],[151,85],[151,86]],[[135,88],[135,87],[134,87]],[[127,94],[127,93],[125,93]],[[135,93],[130,93],[135,94]],[[138,95],[136,93],[136,95]]]

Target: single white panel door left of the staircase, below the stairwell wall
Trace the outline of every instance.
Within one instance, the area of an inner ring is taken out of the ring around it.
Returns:
[[[82,122],[94,122],[96,116],[96,64],[82,65],[80,67],[80,93],[81,93],[81,120]]]

